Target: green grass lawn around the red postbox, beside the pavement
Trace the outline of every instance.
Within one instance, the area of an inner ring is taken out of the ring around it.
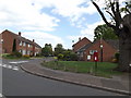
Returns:
[[[120,75],[121,72],[114,71],[117,63],[109,62],[98,62],[97,70],[95,69],[95,62],[84,62],[84,61],[51,61],[44,62],[41,65],[67,72],[74,73],[88,73],[97,76],[112,77],[112,75]]]

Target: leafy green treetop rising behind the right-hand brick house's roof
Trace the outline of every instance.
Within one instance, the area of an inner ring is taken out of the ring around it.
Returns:
[[[114,29],[109,26],[107,26],[106,24],[104,25],[98,25],[95,29],[94,29],[94,40],[96,39],[100,39],[100,37],[103,39],[118,39],[118,36],[115,35]]]

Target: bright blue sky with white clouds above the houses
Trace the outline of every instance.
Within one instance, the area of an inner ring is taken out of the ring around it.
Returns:
[[[100,9],[105,7],[104,0],[96,1]],[[21,32],[41,47],[62,44],[63,48],[72,49],[80,37],[93,41],[94,29],[102,24],[91,0],[0,0],[0,33]]]

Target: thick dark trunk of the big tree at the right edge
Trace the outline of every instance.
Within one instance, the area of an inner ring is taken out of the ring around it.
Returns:
[[[119,35],[119,65],[118,70],[131,72],[131,14],[123,17],[123,28]]]

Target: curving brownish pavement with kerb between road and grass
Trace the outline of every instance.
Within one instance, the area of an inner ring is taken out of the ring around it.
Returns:
[[[129,74],[112,76],[112,78],[105,78],[91,74],[50,70],[41,66],[41,61],[37,63],[24,63],[21,65],[21,69],[37,76],[131,96],[131,89],[129,88],[131,84],[131,81],[129,78],[131,77],[131,75]]]

